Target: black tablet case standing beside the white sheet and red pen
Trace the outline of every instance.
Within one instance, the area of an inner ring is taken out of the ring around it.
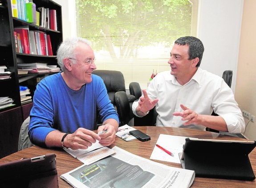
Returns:
[[[194,170],[197,177],[254,180],[248,154],[256,142],[212,142],[190,140],[183,145],[183,168]]]

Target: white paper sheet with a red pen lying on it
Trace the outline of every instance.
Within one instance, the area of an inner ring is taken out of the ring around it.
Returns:
[[[167,149],[169,152],[174,154],[174,156],[168,155],[166,152],[155,146],[153,152],[151,153],[150,159],[180,164],[179,153],[183,151],[183,145],[185,144],[186,138],[187,136],[160,134],[156,144]]]

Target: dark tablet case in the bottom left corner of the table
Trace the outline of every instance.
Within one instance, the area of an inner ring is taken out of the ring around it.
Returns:
[[[0,164],[1,188],[57,188],[56,154],[45,155],[44,160],[24,158]]]

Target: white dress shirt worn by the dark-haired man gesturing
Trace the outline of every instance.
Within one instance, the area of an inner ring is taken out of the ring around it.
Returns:
[[[158,73],[151,80],[147,94],[150,100],[158,99],[156,112],[158,113],[156,126],[195,128],[205,130],[203,125],[190,124],[184,126],[181,116],[173,116],[173,112],[182,112],[180,104],[198,114],[211,115],[213,110],[225,120],[228,132],[243,133],[244,118],[234,94],[225,81],[211,72],[198,68],[191,80],[180,85],[171,71]],[[133,113],[138,101],[133,103]]]

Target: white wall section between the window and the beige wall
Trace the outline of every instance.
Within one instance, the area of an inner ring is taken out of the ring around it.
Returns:
[[[235,92],[244,0],[199,0],[198,37],[204,44],[201,68],[222,76],[233,71]]]

